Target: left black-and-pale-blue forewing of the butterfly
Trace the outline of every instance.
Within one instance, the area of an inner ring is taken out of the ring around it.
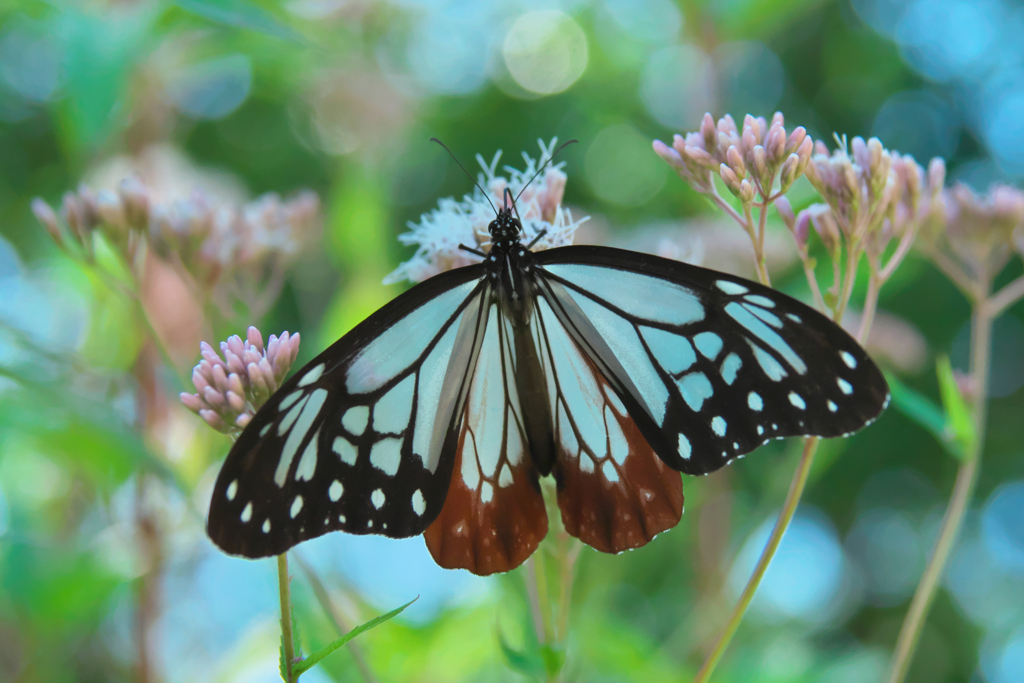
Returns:
[[[470,266],[414,287],[285,382],[220,471],[214,543],[264,557],[337,529],[421,533],[452,477],[453,426],[485,321],[482,276]]]

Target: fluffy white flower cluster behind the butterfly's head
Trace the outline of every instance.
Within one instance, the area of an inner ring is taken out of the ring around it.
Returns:
[[[529,244],[541,232],[545,234],[534,245],[534,251],[572,244],[577,227],[588,216],[573,219],[569,210],[561,206],[566,180],[562,171],[564,164],[548,168],[526,186],[540,169],[539,164],[551,158],[557,142],[558,138],[554,138],[546,145],[543,140],[538,140],[541,147],[539,160],[534,160],[524,152],[522,157],[526,167],[520,171],[505,166],[503,170],[508,177],[498,175],[496,170],[502,156],[501,151],[489,164],[477,155],[476,161],[482,169],[477,183],[486,189],[487,197],[476,188],[461,202],[451,197],[442,199],[437,203],[436,209],[420,217],[419,223],[410,222],[411,231],[398,236],[398,240],[406,245],[415,245],[416,253],[385,278],[384,284],[390,285],[403,280],[420,283],[444,270],[479,263],[479,256],[460,249],[459,245],[483,252],[490,249],[487,225],[495,219],[494,207],[504,206],[502,203],[506,188],[513,198],[519,197],[515,206],[522,220],[521,237],[524,244]]]

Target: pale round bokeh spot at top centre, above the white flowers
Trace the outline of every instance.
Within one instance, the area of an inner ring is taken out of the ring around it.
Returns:
[[[516,83],[551,95],[567,89],[587,69],[587,36],[564,12],[527,12],[512,25],[502,53]]]

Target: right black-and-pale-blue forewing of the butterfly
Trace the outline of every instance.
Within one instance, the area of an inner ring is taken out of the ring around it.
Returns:
[[[842,328],[772,289],[604,247],[536,260],[544,298],[676,470],[715,471],[771,437],[845,435],[888,402]]]

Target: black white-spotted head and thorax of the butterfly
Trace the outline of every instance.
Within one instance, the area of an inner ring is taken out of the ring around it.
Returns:
[[[502,310],[517,324],[529,322],[532,294],[528,273],[532,253],[519,242],[522,224],[510,209],[502,209],[487,226],[490,252],[484,261],[495,296]]]

